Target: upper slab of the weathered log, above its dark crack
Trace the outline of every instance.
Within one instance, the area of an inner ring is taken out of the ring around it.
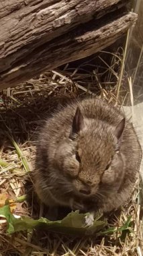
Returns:
[[[120,3],[119,0],[71,0],[68,2],[28,0],[26,4],[29,5],[23,7],[25,1],[16,3],[17,1],[13,0],[12,2],[13,5],[10,5],[11,1],[5,3],[5,0],[0,3],[3,15],[6,15],[7,9],[8,11],[19,9],[0,20],[0,60],[15,52],[17,57],[26,53],[29,55],[30,50],[64,34],[78,24],[88,22],[93,15],[97,17],[105,14],[107,7]],[[32,5],[33,2],[34,5]],[[2,8],[1,5],[3,6],[4,3],[5,7]],[[109,10],[111,11],[110,8]],[[28,51],[24,46],[28,46]],[[9,67],[10,65],[9,61]],[[3,70],[7,68],[7,63],[1,61],[0,68]]]

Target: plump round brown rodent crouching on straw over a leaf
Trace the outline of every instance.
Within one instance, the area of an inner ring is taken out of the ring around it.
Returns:
[[[46,120],[38,139],[34,186],[43,203],[109,212],[130,196],[142,151],[117,108],[87,98]]]

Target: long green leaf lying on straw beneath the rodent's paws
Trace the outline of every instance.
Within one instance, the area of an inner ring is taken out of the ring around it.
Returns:
[[[77,236],[91,235],[103,230],[107,225],[107,220],[103,217],[94,221],[93,226],[85,227],[86,214],[79,214],[78,211],[70,212],[63,220],[50,221],[46,218],[34,220],[29,217],[15,218],[10,212],[9,205],[0,208],[0,216],[7,219],[7,232],[9,234],[21,230],[32,230],[42,228],[49,231],[60,232],[63,234],[74,234]]]

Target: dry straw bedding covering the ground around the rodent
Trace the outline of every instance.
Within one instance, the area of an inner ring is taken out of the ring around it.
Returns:
[[[105,55],[110,58],[110,63],[103,59]],[[30,206],[27,201],[23,201],[26,194],[24,177],[34,167],[34,141],[39,125],[42,125],[45,117],[50,115],[58,104],[65,104],[74,98],[97,95],[109,103],[116,104],[120,93],[117,83],[121,82],[119,77],[122,56],[118,51],[104,51],[77,67],[66,65],[61,69],[45,72],[16,88],[3,90],[0,101],[0,192],[7,191],[11,198],[15,199],[15,214],[40,214],[39,209],[37,212],[35,210],[38,205],[34,205],[34,201]],[[100,64],[95,65],[97,59]],[[128,83],[128,77],[124,79]],[[118,231],[98,237],[77,238],[42,230],[17,232],[10,236],[6,233],[5,222],[0,220],[0,255],[142,255],[139,200],[140,187],[139,183],[136,183],[132,200],[109,218],[109,226],[116,227]]]

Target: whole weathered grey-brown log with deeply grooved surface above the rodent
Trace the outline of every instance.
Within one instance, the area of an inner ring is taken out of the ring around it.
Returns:
[[[120,0],[1,0],[0,90],[87,57],[136,21]]]

